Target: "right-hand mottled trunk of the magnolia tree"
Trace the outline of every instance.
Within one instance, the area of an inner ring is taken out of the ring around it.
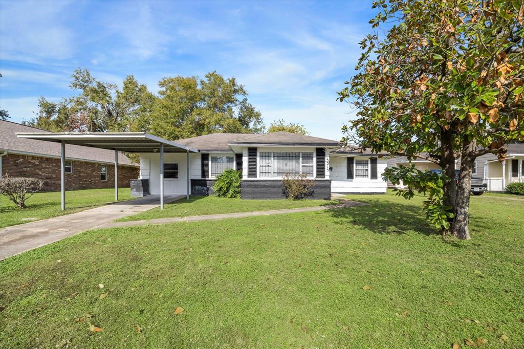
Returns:
[[[455,216],[451,230],[453,235],[461,240],[470,239],[470,189],[473,167],[475,166],[475,157],[472,154],[475,148],[475,140],[471,142],[464,140],[455,209],[453,211]]]

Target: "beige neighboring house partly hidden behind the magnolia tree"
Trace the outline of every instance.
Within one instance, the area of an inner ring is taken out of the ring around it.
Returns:
[[[388,167],[409,163],[406,157],[392,157],[387,162]],[[440,169],[439,165],[425,159],[418,158],[411,163],[421,171]],[[460,169],[460,159],[455,161],[455,169]],[[497,192],[505,191],[508,183],[524,182],[524,144],[508,144],[507,157],[502,162],[493,154],[479,156],[475,159],[473,177],[484,179],[487,190]]]

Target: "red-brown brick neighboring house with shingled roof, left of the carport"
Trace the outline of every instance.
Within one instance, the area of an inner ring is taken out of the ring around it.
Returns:
[[[60,144],[24,139],[17,132],[45,130],[0,121],[0,173],[11,177],[36,177],[44,181],[42,191],[60,190]],[[115,153],[112,150],[65,146],[65,189],[115,187]],[[105,171],[104,171],[105,170]],[[118,154],[118,187],[129,187],[138,178],[139,165]]]

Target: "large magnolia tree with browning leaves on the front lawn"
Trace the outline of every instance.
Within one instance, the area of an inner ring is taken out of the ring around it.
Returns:
[[[420,173],[406,169],[386,177],[409,182],[408,198],[431,189],[427,209],[441,217],[435,225],[468,239],[475,159],[492,153],[503,161],[507,144],[524,139],[523,2],[378,0],[373,7],[379,13],[370,23],[384,30],[362,40],[357,73],[339,92],[357,111],[344,141],[441,166],[441,184],[425,176],[421,187]]]

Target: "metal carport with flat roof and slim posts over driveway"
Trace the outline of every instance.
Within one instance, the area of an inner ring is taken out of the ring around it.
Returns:
[[[65,145],[74,144],[85,147],[95,147],[110,149],[115,151],[115,200],[118,200],[118,151],[131,153],[159,153],[160,154],[160,209],[163,209],[164,192],[163,192],[163,155],[164,152],[185,152],[187,154],[187,198],[191,190],[189,175],[189,153],[198,152],[198,150],[174,143],[170,140],[150,135],[145,132],[96,132],[96,133],[17,133],[19,138],[30,138],[37,140],[46,140],[61,144],[61,204],[62,210],[65,210]]]

